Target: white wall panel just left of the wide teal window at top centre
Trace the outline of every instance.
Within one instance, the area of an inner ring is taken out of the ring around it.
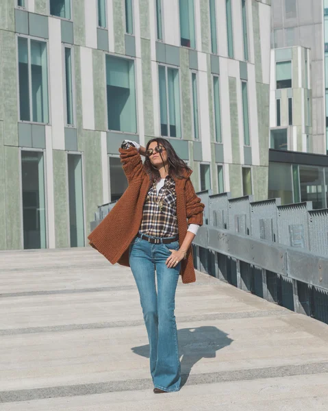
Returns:
[[[180,46],[179,1],[164,0],[162,5],[165,42],[168,45]]]

